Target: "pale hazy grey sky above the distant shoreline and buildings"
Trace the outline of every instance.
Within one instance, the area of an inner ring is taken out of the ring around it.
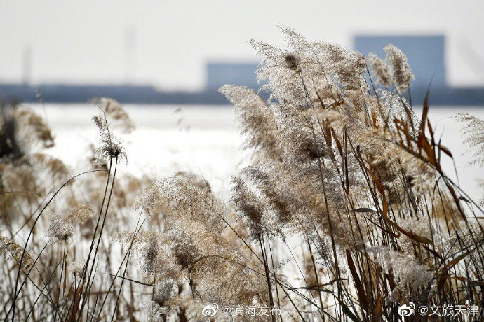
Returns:
[[[278,25],[351,45],[353,34],[445,34],[448,80],[484,85],[484,1],[0,0],[0,81],[203,85],[208,60],[255,60],[247,41],[281,45]],[[134,55],[126,34],[135,33]]]

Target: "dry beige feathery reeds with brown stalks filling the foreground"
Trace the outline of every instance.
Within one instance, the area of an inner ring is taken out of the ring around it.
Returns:
[[[365,59],[283,32],[288,48],[253,42],[267,102],[221,89],[253,153],[230,202],[194,174],[119,176],[114,133],[134,125],[111,99],[96,101],[81,174],[46,155],[39,116],[4,104],[2,318],[197,321],[217,303],[282,307],[236,317],[250,321],[398,321],[408,302],[484,307],[483,210],[441,167],[452,153],[429,96],[419,117],[405,99],[405,55],[389,45]],[[461,118],[481,148],[482,121]]]

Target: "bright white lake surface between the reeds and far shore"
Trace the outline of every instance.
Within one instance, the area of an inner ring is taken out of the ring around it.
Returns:
[[[91,118],[99,112],[93,105],[36,104],[34,109],[46,115],[55,134],[50,153],[79,169],[88,145],[95,142],[97,129]],[[232,174],[248,160],[240,149],[234,110],[231,106],[133,106],[126,105],[136,130],[123,135],[128,153],[126,171],[133,174],[165,176],[180,170],[204,176],[213,190],[227,197]],[[470,154],[462,144],[459,124],[453,116],[470,113],[484,119],[484,107],[431,106],[429,119],[442,144],[452,151],[459,181],[469,195],[479,199],[483,191],[476,179],[484,179],[482,169],[467,166]],[[416,109],[417,115],[421,110]],[[455,178],[452,161],[443,165]]]

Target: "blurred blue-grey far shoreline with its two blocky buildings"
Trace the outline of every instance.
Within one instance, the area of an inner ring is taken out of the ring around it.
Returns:
[[[422,104],[430,86],[430,102],[434,105],[484,105],[484,87],[449,87],[445,73],[445,36],[373,36],[354,37],[354,49],[368,55],[384,57],[385,45],[396,45],[408,57],[415,75],[411,86],[414,105]],[[150,85],[63,85],[0,84],[0,97],[36,102],[40,92],[46,102],[84,103],[93,97],[112,97],[121,103],[133,104],[227,104],[217,92],[225,84],[243,85],[257,90],[257,62],[209,62],[206,84],[199,92],[163,91]],[[405,93],[408,95],[408,93]],[[267,96],[263,93],[263,96]]]

